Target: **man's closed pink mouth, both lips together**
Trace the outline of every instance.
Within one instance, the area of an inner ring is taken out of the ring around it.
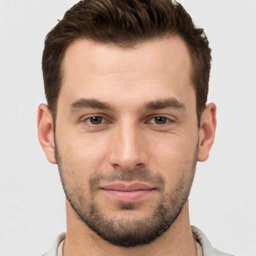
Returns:
[[[122,202],[144,199],[155,190],[155,187],[140,182],[116,182],[103,185],[100,188],[107,196]]]

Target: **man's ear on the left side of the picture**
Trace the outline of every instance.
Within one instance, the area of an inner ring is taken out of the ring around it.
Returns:
[[[56,163],[54,156],[53,120],[45,104],[40,104],[37,110],[37,131],[40,145],[50,163]]]

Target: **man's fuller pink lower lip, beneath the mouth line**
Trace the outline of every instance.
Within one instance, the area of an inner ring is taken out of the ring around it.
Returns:
[[[140,189],[133,191],[122,191],[122,190],[112,190],[112,189],[102,189],[104,193],[111,196],[112,198],[123,201],[132,202],[137,201],[145,196],[149,195],[154,189]]]

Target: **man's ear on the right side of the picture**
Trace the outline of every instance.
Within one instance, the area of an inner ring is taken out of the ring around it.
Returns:
[[[199,130],[199,149],[197,160],[206,161],[209,157],[209,151],[213,144],[216,129],[216,105],[207,104],[201,116]]]

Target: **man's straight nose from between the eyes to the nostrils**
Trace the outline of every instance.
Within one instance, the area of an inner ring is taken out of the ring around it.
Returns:
[[[132,170],[145,166],[147,158],[142,131],[135,124],[117,125],[111,137],[109,163],[115,168]]]

